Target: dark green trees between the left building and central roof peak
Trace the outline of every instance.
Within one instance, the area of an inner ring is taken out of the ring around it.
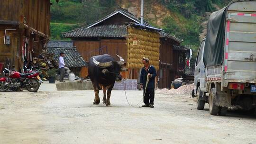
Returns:
[[[90,24],[117,8],[115,0],[51,0],[51,21]]]

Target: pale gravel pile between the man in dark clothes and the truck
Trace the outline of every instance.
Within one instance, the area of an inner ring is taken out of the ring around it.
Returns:
[[[187,84],[179,87],[178,89],[158,89],[155,92],[157,93],[165,93],[165,94],[190,94],[194,88],[194,84]]]

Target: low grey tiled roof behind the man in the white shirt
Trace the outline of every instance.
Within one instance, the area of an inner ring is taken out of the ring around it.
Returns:
[[[76,48],[73,47],[72,41],[49,41],[47,44],[47,52],[55,54],[54,59],[56,61],[59,60],[59,55],[61,52],[63,52],[65,54],[64,62],[67,67],[72,68],[88,66],[88,63],[83,60]]]

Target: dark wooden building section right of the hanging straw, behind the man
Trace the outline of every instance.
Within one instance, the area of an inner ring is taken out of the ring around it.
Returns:
[[[188,48],[181,46],[180,41],[175,41],[172,36],[162,32],[160,43],[158,87],[170,88],[174,79],[184,77]]]

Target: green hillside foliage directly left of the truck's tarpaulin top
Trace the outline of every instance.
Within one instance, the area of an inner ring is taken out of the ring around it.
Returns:
[[[205,12],[217,10],[227,5],[231,0],[158,0],[172,11],[177,18],[172,16],[164,19],[164,30],[183,40],[182,45],[190,45],[195,60],[196,52],[200,44],[199,35],[202,31],[201,23]]]

